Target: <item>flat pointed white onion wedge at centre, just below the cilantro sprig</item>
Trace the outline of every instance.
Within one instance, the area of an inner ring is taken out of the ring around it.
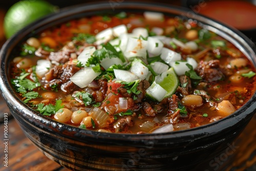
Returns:
[[[114,73],[115,73],[116,79],[121,81],[131,82],[139,79],[138,76],[136,76],[134,73],[130,71],[114,69]]]

